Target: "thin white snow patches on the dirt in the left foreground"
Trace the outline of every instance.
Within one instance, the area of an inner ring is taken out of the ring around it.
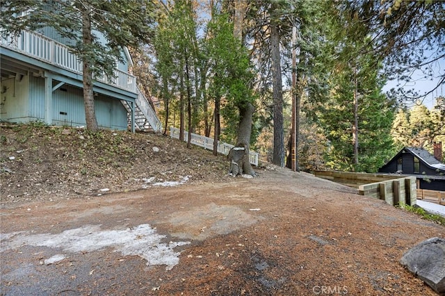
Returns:
[[[124,230],[102,230],[100,225],[85,225],[76,229],[65,230],[62,233],[29,234],[2,233],[1,251],[17,249],[23,245],[61,248],[65,252],[92,252],[106,247],[113,247],[116,252],[124,256],[137,255],[147,260],[147,265],[167,265],[170,270],[179,263],[179,252],[174,248],[188,245],[190,242],[162,242],[165,236],[156,233],[156,228],[149,224]],[[56,257],[55,257],[56,256]],[[46,262],[58,261],[61,254],[57,254]],[[60,259],[63,260],[63,259]]]

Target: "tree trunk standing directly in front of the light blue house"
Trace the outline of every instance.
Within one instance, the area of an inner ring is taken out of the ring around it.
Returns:
[[[82,40],[83,44],[88,47],[92,44],[92,33],[91,33],[91,7],[88,1],[85,3],[84,9],[82,10]],[[86,128],[90,131],[98,131],[99,126],[97,125],[96,112],[95,112],[95,97],[92,91],[92,71],[90,60],[83,56],[83,105],[85,106],[85,119]]]

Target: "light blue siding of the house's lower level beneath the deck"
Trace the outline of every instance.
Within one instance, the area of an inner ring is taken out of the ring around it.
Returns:
[[[22,81],[1,81],[1,120],[8,122],[44,121],[44,78],[24,76]],[[127,110],[120,100],[95,97],[97,124],[101,128],[127,130]],[[83,90],[62,85],[52,94],[52,124],[85,126]]]

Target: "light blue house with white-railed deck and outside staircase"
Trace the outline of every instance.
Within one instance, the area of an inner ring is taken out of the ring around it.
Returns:
[[[0,120],[42,121],[58,126],[85,126],[82,63],[51,28],[22,31],[1,39]],[[161,131],[156,113],[129,73],[129,51],[122,53],[115,77],[95,81],[97,123],[103,129]]]

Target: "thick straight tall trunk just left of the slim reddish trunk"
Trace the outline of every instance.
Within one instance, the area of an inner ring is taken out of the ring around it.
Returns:
[[[281,78],[280,33],[273,19],[270,21],[270,56],[273,85],[273,158],[272,163],[284,167],[283,92]]]

